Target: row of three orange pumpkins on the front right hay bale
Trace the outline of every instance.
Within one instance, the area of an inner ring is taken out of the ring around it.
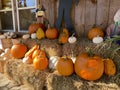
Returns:
[[[98,55],[91,56],[88,52],[81,53],[76,57],[75,63],[71,58],[61,57],[56,70],[62,76],[70,76],[74,72],[84,80],[98,80],[103,73],[113,76],[116,73],[116,66],[112,59],[103,59]]]

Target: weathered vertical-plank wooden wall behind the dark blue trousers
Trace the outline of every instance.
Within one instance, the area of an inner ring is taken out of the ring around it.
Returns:
[[[46,17],[52,26],[57,18],[58,2],[59,0],[40,0],[46,8]],[[105,30],[113,23],[113,17],[119,8],[120,0],[97,0],[96,4],[91,0],[79,0],[79,4],[73,4],[71,10],[71,19],[77,35],[86,36],[93,25]]]

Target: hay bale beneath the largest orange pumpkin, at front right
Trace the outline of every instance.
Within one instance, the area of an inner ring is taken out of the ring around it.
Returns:
[[[105,77],[107,78],[107,77]],[[104,79],[104,77],[102,77]],[[49,74],[46,81],[47,90],[119,90],[120,86],[113,82],[85,81],[76,74],[63,77],[56,73]],[[110,79],[110,78],[109,78]]]

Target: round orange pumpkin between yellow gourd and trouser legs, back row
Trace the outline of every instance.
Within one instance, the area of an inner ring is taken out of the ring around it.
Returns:
[[[50,26],[48,26],[45,34],[48,39],[56,39],[58,37],[58,30],[57,28],[50,28]]]

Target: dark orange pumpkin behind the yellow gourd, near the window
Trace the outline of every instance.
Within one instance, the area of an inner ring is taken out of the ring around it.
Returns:
[[[45,26],[41,23],[33,23],[28,27],[28,31],[30,34],[32,34],[35,33],[38,30],[38,28],[42,28],[44,30]]]

